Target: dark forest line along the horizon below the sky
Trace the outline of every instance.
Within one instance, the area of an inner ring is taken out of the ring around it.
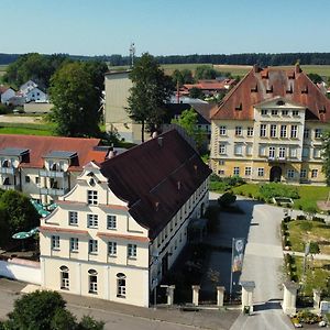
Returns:
[[[120,54],[99,55],[99,56],[82,56],[69,54],[56,54],[61,57],[66,57],[76,61],[102,61],[111,66],[130,65],[130,56]],[[0,65],[8,65],[15,62],[19,54],[0,54]],[[53,56],[53,55],[45,55]],[[245,53],[245,54],[190,54],[190,55],[164,55],[156,56],[160,64],[187,64],[187,63],[210,63],[210,64],[227,64],[227,65],[253,65],[261,66],[277,66],[277,65],[294,65],[298,59],[302,65],[330,65],[330,53]]]

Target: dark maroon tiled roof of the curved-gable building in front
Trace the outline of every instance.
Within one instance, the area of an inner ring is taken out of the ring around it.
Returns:
[[[172,130],[102,163],[109,188],[154,239],[211,170]],[[178,187],[179,186],[179,187]]]

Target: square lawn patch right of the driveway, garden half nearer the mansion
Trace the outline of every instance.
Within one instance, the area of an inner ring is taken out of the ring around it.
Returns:
[[[305,243],[312,241],[319,243],[320,253],[330,254],[330,226],[318,221],[295,220],[288,222],[288,230],[293,251],[304,252]]]

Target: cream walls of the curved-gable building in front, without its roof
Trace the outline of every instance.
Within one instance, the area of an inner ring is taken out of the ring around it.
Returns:
[[[152,289],[186,244],[189,220],[208,205],[208,182],[155,239],[94,163],[62,199],[41,223],[42,286],[148,307]]]

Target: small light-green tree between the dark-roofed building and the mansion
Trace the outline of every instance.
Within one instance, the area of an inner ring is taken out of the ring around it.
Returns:
[[[195,140],[197,148],[202,148],[206,141],[206,132],[198,129],[198,113],[193,108],[183,111],[178,119],[172,120],[172,123],[182,127]]]

